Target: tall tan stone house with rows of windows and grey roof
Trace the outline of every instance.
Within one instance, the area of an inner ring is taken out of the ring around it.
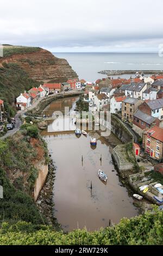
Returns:
[[[141,105],[142,100],[135,99],[133,97],[127,97],[122,101],[122,120],[127,120],[132,123],[133,114],[137,108]]]

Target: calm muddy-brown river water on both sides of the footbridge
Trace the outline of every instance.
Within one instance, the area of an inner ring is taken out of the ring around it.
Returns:
[[[52,115],[54,111],[64,111],[65,106],[74,107],[76,100],[77,97],[56,100],[45,109],[45,113]],[[55,217],[65,231],[84,227],[98,230],[109,223],[118,223],[123,217],[138,214],[134,200],[122,185],[111,159],[112,148],[121,142],[112,133],[104,138],[94,132],[97,147],[92,149],[91,134],[90,131],[87,137],[77,138],[73,131],[42,132],[57,166]],[[106,185],[97,176],[99,169],[108,175]]]

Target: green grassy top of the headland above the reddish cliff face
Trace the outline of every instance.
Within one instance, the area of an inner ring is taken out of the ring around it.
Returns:
[[[15,54],[25,54],[40,51],[40,47],[3,45],[3,57],[10,57]]]

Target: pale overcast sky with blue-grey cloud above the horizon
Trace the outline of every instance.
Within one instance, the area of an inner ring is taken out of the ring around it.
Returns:
[[[0,0],[0,43],[53,52],[158,51],[162,0]]]

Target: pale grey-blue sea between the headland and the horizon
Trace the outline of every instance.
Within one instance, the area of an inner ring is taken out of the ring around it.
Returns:
[[[77,72],[79,79],[94,82],[106,75],[102,70],[163,70],[163,57],[158,53],[108,53],[108,52],[57,52],[58,58],[65,58]],[[150,73],[149,73],[150,74]],[[121,75],[129,78],[130,74]],[[135,74],[132,75],[135,77]],[[111,76],[118,78],[118,76]]]

